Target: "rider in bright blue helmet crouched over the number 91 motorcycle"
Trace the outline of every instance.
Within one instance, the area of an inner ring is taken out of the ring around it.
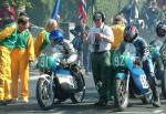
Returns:
[[[42,53],[46,55],[53,55],[54,53],[63,54],[61,63],[71,64],[77,59],[77,54],[69,40],[64,39],[62,30],[53,30],[50,33],[50,43],[42,50]]]

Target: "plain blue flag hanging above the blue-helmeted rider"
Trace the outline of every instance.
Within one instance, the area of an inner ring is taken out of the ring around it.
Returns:
[[[52,19],[55,19],[55,20],[58,19],[59,8],[60,8],[60,0],[55,0]]]

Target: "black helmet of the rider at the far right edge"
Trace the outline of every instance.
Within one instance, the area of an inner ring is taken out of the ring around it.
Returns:
[[[165,22],[159,22],[156,27],[156,33],[159,38],[165,37],[166,34],[166,24]]]

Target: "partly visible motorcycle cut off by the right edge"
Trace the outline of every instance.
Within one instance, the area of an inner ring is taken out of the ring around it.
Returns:
[[[159,41],[157,44],[155,43],[157,42],[149,43],[149,52],[153,58],[155,75],[157,80],[160,80],[162,94],[166,99],[166,45]]]

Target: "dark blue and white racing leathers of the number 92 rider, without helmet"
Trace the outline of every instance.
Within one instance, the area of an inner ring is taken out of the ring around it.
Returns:
[[[135,48],[136,56],[141,58],[141,62],[143,63],[143,70],[145,72],[145,74],[147,75],[147,81],[149,83],[149,86],[153,91],[153,96],[154,96],[153,105],[158,107],[160,105],[159,94],[157,92],[157,83],[156,83],[156,77],[155,77],[155,73],[154,73],[152,56],[149,55],[148,44],[141,37],[135,38],[135,40],[131,43]],[[127,45],[128,44],[125,41],[123,41],[120,46],[121,51],[124,52],[127,49],[131,50],[131,46],[127,46]]]

